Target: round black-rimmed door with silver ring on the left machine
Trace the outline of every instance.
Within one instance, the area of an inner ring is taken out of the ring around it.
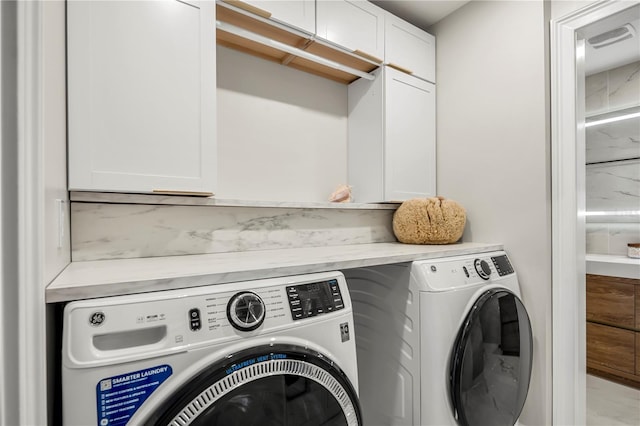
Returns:
[[[246,349],[178,388],[147,425],[361,425],[348,377],[323,354],[293,345]]]

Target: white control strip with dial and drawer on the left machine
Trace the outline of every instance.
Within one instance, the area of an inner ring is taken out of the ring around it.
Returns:
[[[301,319],[318,315],[343,322],[351,317],[341,272],[78,300],[64,309],[64,362],[85,368],[157,357],[315,326]]]

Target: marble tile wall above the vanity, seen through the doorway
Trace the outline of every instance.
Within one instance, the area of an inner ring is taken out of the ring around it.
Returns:
[[[587,117],[638,106],[640,62],[587,77]],[[586,162],[587,253],[626,255],[640,242],[640,214],[620,214],[640,212],[640,118],[588,127]]]

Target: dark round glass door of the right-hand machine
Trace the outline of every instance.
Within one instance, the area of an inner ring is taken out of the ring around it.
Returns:
[[[505,288],[484,292],[456,338],[450,364],[454,416],[463,426],[512,426],[531,379],[531,323]]]

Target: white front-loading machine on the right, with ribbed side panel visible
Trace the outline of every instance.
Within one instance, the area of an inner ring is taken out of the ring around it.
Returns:
[[[343,272],[367,426],[516,423],[532,334],[505,252]]]

